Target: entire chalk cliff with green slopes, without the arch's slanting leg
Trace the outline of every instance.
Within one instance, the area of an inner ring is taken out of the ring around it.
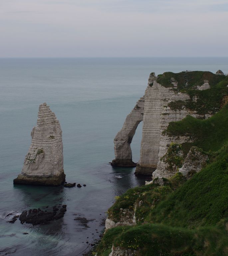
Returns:
[[[153,179],[116,197],[97,256],[227,255],[227,84],[220,70],[151,73],[136,173]]]

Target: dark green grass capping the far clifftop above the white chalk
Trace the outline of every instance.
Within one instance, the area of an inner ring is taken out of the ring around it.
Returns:
[[[177,81],[176,88],[171,83],[172,78]],[[203,85],[204,80],[209,82],[210,88],[197,90],[197,86]],[[228,77],[215,75],[208,71],[165,72],[158,75],[157,82],[164,87],[172,87],[174,90],[189,95],[189,100],[169,102],[168,106],[174,110],[185,107],[201,115],[206,113],[215,114],[228,100]]]

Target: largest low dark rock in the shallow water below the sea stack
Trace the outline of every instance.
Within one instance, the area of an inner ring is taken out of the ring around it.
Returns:
[[[19,217],[21,224],[30,223],[33,225],[48,224],[50,221],[58,220],[64,216],[67,211],[67,205],[63,205],[62,208],[53,207],[53,211],[47,212],[41,209],[30,209],[29,211],[23,211]]]

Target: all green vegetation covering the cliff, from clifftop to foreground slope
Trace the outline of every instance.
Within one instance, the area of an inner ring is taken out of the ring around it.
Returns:
[[[205,120],[189,115],[170,122],[163,135],[188,136],[191,142],[171,143],[163,160],[178,169],[182,155],[196,146],[208,155],[208,164],[188,180],[177,172],[171,179],[155,179],[116,198],[109,218],[119,222],[128,209],[136,225],[107,230],[97,247],[98,256],[109,255],[112,246],[130,249],[137,256],[228,256],[228,79],[211,72],[166,72],[157,82],[173,87],[171,78],[190,100],[174,102],[170,108],[215,114]],[[211,88],[195,90],[204,80]]]

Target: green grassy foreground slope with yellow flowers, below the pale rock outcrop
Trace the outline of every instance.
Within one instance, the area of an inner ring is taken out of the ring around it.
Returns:
[[[113,244],[141,256],[228,255],[228,146],[190,180],[184,182],[176,174],[164,182],[163,187],[150,184],[128,190],[117,199],[109,215],[142,201],[135,213],[137,225],[109,229],[98,255],[109,255]],[[123,205],[125,198],[129,201]]]

